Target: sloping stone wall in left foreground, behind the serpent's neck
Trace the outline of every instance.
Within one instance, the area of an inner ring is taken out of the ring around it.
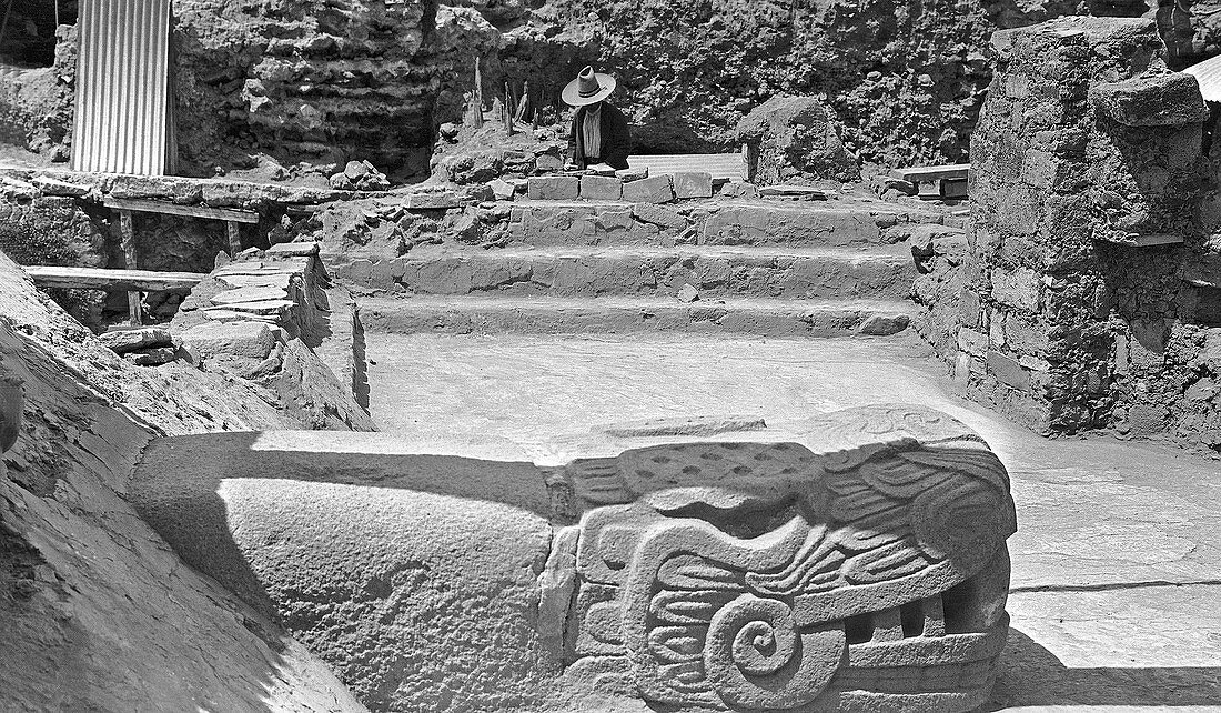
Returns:
[[[5,256],[0,283],[0,376],[24,388],[0,463],[0,707],[364,711],[280,624],[184,566],[126,499],[151,438],[292,421],[221,375],[126,364]]]

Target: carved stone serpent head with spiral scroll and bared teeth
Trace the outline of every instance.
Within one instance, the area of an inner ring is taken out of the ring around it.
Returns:
[[[946,430],[918,410],[868,415],[926,441]],[[833,709],[901,695],[878,676],[908,659],[944,680],[910,695],[978,698],[1004,642],[1007,476],[961,427],[935,446],[900,431],[822,455],[713,442],[574,464],[580,498],[623,504],[581,520],[573,656],[621,652],[658,704]]]

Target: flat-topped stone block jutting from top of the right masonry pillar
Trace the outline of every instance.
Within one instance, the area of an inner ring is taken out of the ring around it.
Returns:
[[[1147,73],[1096,84],[1089,98],[1095,111],[1125,126],[1182,126],[1209,116],[1199,82],[1183,72]]]

